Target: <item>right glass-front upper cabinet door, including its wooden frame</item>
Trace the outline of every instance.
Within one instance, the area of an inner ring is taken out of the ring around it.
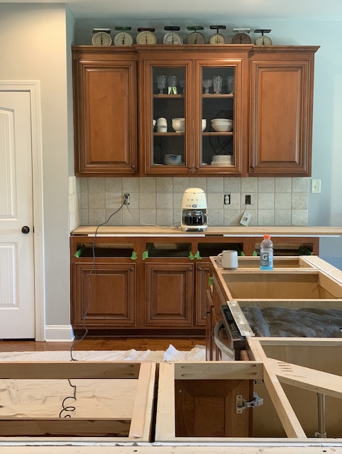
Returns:
[[[243,131],[241,60],[196,63],[194,170],[240,173]]]

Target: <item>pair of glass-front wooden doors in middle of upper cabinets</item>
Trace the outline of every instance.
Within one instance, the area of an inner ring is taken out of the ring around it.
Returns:
[[[243,59],[198,57],[143,59],[144,175],[241,175]]]

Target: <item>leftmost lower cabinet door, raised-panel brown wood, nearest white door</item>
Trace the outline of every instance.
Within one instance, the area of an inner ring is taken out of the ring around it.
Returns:
[[[75,328],[136,324],[136,265],[75,265]],[[89,272],[92,270],[91,274]]]

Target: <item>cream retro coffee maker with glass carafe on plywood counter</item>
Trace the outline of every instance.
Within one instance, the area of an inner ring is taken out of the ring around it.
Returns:
[[[203,189],[185,189],[182,199],[181,227],[184,231],[204,231],[208,227],[206,214],[206,194]]]

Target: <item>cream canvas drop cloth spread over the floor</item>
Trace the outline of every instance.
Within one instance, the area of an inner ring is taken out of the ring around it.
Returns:
[[[78,361],[205,361],[205,347],[197,345],[188,352],[173,345],[167,350],[75,350]],[[4,361],[69,361],[70,351],[6,352]],[[138,380],[0,380],[0,416],[57,418],[65,406],[75,406],[72,417],[127,418],[132,416]],[[65,416],[63,412],[61,416]]]

